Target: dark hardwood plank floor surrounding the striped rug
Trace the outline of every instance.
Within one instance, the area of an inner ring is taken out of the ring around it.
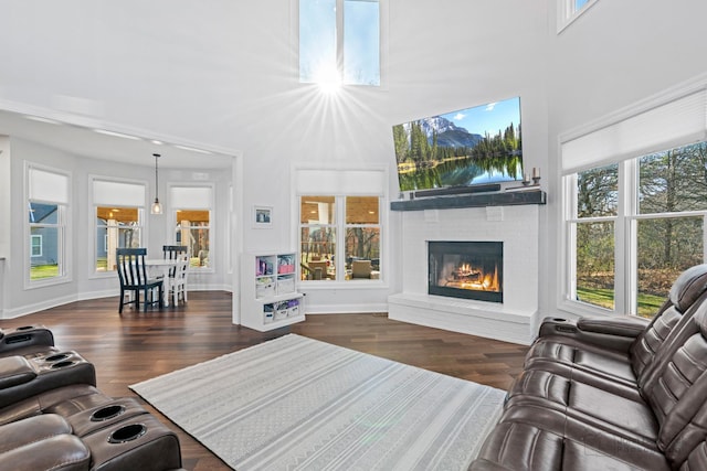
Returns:
[[[317,314],[272,332],[231,323],[231,293],[190,292],[189,303],[163,311],[118,314],[118,299],[78,301],[13,320],[0,328],[43,324],[56,345],[94,363],[98,388],[135,396],[128,385],[296,333],[481,384],[508,388],[520,372],[527,346],[391,321],[380,314]],[[140,399],[141,400],[141,399]],[[149,405],[178,432],[183,467],[228,470],[220,459]]]

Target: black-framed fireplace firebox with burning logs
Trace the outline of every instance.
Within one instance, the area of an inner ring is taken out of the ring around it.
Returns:
[[[504,302],[503,242],[428,242],[428,292]]]

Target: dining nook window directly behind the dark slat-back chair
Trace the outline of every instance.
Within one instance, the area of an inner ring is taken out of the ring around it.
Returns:
[[[115,271],[116,249],[144,247],[145,184],[95,178],[92,186],[94,270]]]

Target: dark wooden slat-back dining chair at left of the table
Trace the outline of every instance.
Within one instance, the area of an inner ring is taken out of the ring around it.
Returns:
[[[148,306],[154,304],[158,304],[159,309],[162,309],[163,283],[161,279],[147,277],[147,269],[145,268],[146,256],[147,248],[118,248],[116,250],[118,278],[120,280],[119,313],[123,313],[123,307],[127,304],[135,304],[138,311],[140,310],[140,304],[143,304],[145,312],[147,312]],[[158,295],[157,299],[155,299],[155,291]],[[133,295],[128,301],[125,300],[126,293]],[[143,301],[140,301],[140,293],[143,293]]]

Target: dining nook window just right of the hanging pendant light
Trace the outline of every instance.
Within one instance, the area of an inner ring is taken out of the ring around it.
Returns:
[[[175,244],[187,246],[192,269],[212,269],[213,188],[171,186],[170,206],[173,211]]]

